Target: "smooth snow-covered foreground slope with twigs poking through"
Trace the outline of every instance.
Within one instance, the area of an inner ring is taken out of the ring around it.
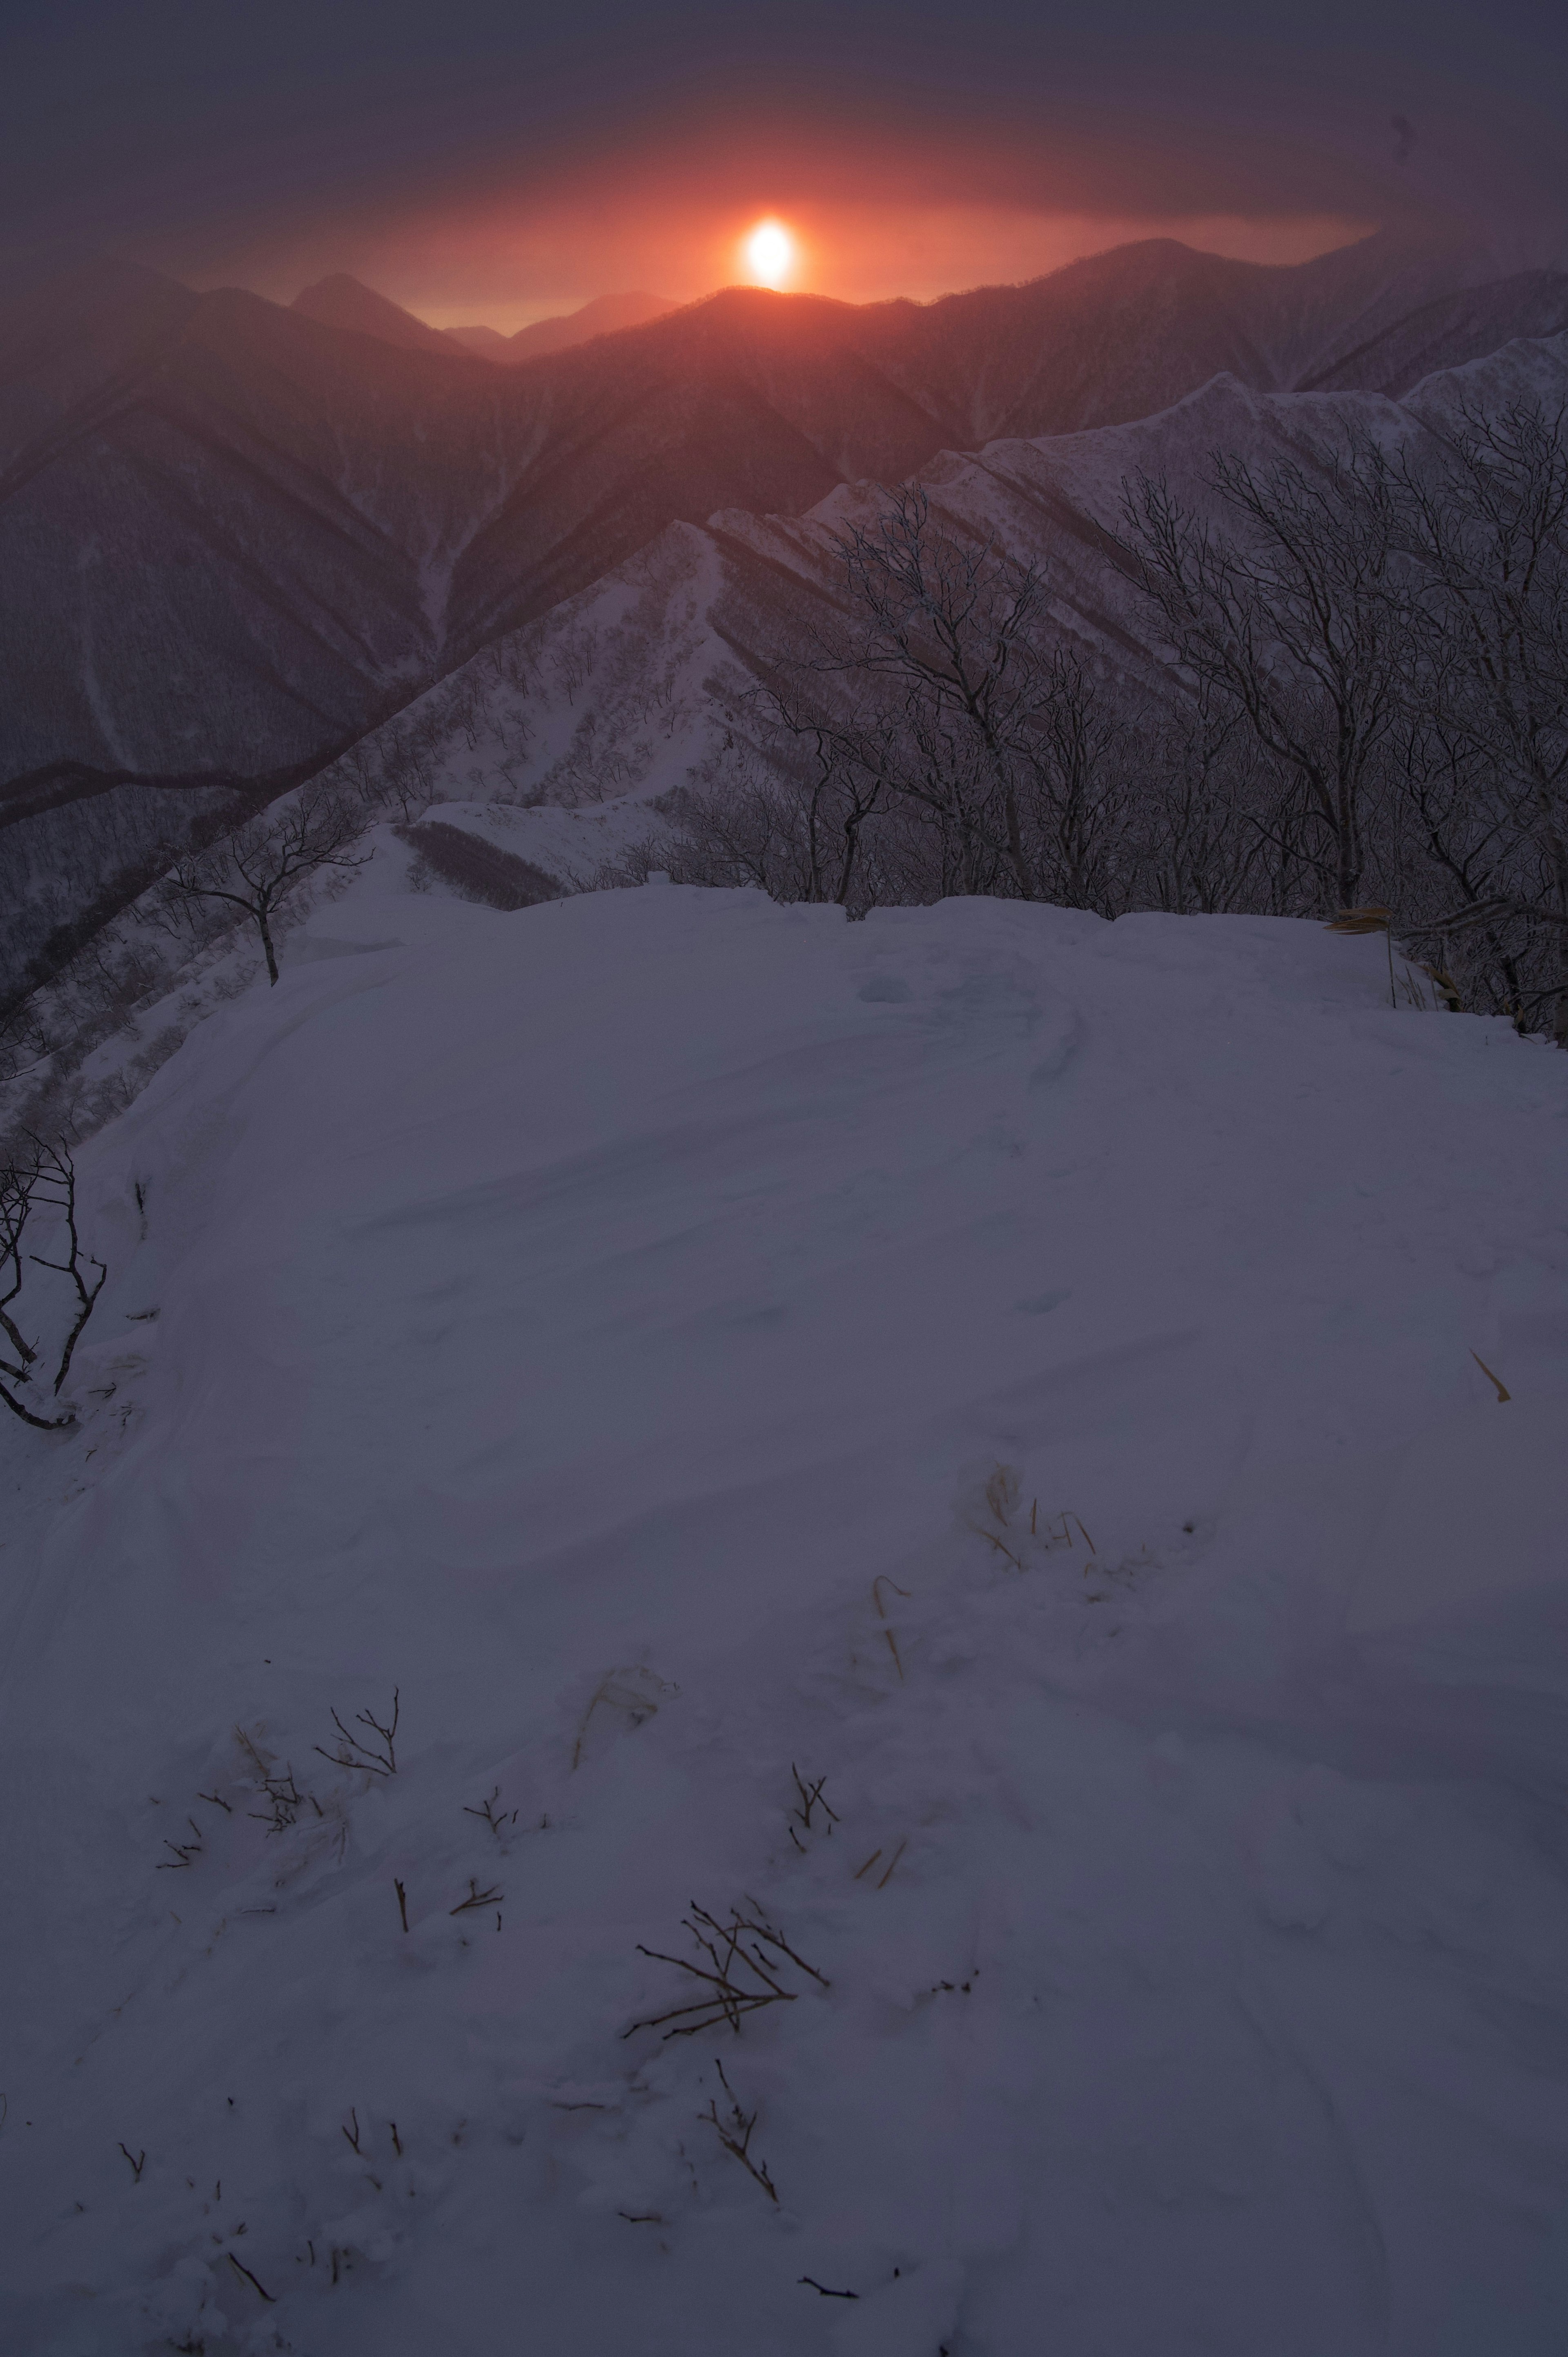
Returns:
[[[1559,2352],[1568,1063],[1299,924],[375,879],[0,1442],[0,2343]],[[632,2029],[693,1902],[778,1999]]]

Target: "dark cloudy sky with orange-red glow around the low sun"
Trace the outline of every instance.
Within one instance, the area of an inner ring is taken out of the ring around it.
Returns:
[[[436,325],[788,285],[931,297],[1170,233],[1302,259],[1429,210],[1554,250],[1561,0],[28,0],[14,252],[288,299],[347,269]]]

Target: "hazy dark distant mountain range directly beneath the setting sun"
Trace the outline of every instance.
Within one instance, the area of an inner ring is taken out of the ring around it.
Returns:
[[[278,306],[94,264],[0,318],[7,849],[40,877],[113,839],[83,856],[113,898],[170,811],[309,773],[670,523],[799,516],[1219,372],[1398,394],[1563,325],[1566,276],[1443,245],[1269,269],[1151,240],[936,304],[731,288],[493,368],[354,280]],[[132,790],[134,827],[87,808]],[[14,964],[61,924],[28,893]]]

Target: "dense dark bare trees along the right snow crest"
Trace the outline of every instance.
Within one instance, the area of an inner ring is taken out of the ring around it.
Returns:
[[[922,490],[835,535],[837,618],[755,691],[620,877],[854,912],[946,893],[1335,917],[1568,1039],[1568,427],[1457,410],[1122,486],[1158,674]]]

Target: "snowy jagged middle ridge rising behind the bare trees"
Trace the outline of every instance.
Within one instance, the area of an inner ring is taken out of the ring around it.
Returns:
[[[1127,478],[1165,476],[1203,507],[1214,450],[1266,464],[1346,427],[1389,448],[1415,448],[1455,403],[1495,408],[1516,398],[1549,412],[1568,401],[1568,332],[1518,339],[1443,370],[1403,401],[1254,394],[1236,377],[1217,377],[1155,417],[943,453],[915,481],[946,533],[1040,563],[1061,634],[1158,695],[1167,684],[1151,653],[1148,615],[1111,540]],[[670,526],[592,589],[420,698],[408,719],[422,731],[441,792],[457,801],[495,797],[498,825],[519,851],[564,879],[592,877],[592,830],[561,830],[556,813],[615,808],[627,794],[648,799],[731,775],[736,745],[755,738],[747,691],[778,672],[788,679],[790,662],[809,653],[839,594],[832,535],[872,523],[877,502],[877,486],[856,483],[804,516],[726,509],[707,526]],[[391,731],[373,735],[365,752],[382,745],[391,745]],[[533,801],[549,808],[526,808]],[[644,832],[651,825],[646,818]]]

